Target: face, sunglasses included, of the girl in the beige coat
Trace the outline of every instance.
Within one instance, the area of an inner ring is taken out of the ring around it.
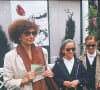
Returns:
[[[97,47],[97,42],[94,39],[87,40],[86,48],[89,54],[93,54],[95,52],[96,47]]]

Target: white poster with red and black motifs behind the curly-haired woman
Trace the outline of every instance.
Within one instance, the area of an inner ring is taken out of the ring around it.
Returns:
[[[12,21],[28,19],[35,21],[40,30],[35,40],[38,46],[49,45],[47,1],[10,1]]]

